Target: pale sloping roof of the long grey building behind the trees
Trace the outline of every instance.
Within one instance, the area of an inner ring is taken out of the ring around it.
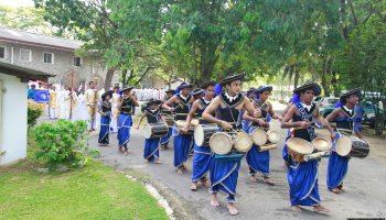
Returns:
[[[0,26],[0,41],[18,42],[24,44],[51,46],[62,50],[76,50],[83,42],[64,38],[60,36],[49,36],[43,34],[30,33],[15,29]]]

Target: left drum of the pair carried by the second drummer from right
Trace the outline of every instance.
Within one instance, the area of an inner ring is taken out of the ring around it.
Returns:
[[[304,155],[311,154],[313,152],[313,146],[311,142],[303,139],[291,138],[287,141],[288,153],[291,155],[292,160],[300,163],[304,161]]]

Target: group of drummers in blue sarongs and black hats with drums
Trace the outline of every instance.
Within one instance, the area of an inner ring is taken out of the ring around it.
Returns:
[[[312,206],[314,211],[329,211],[321,205],[319,196],[319,162],[328,157],[328,187],[340,194],[344,191],[343,179],[349,160],[365,157],[369,152],[367,142],[353,134],[354,106],[358,101],[360,90],[342,95],[342,105],[324,119],[319,116],[318,105],[313,102],[321,88],[315,82],[308,82],[293,90],[291,105],[281,116],[276,116],[268,101],[272,87],[251,88],[243,95],[243,74],[232,75],[218,84],[207,81],[194,90],[193,85],[182,82],[176,92],[167,91],[164,100],[150,100],[136,127],[139,129],[147,118],[143,157],[160,163],[159,147],[168,148],[173,138],[173,164],[178,174],[187,169],[185,162],[193,154],[191,190],[200,186],[208,187],[214,207],[219,206],[218,191],[224,191],[227,194],[229,213],[237,215],[235,196],[244,157],[251,180],[256,182],[256,174],[260,173],[264,183],[275,184],[269,178],[269,151],[278,147],[280,135],[269,127],[269,122],[279,120],[281,128],[288,129],[282,158],[288,169],[292,210],[300,212],[300,206]],[[125,101],[119,108],[125,108]],[[130,129],[131,124],[122,120],[119,120],[119,127]],[[330,122],[336,122],[336,128],[333,129]],[[315,123],[326,129],[328,134],[315,133]],[[126,138],[130,131],[127,132]],[[126,142],[119,141],[119,146],[127,142],[128,139]]]

